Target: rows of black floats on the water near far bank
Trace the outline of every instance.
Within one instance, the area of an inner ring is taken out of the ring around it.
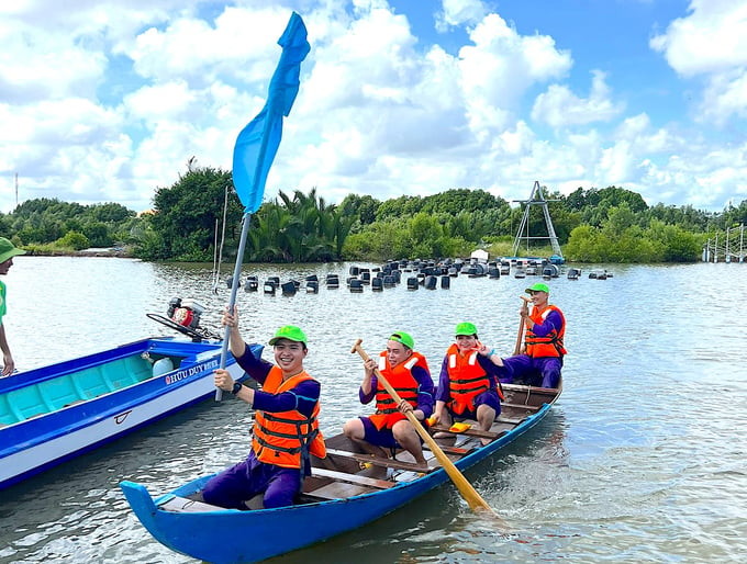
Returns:
[[[394,287],[402,282],[403,275],[408,290],[417,290],[424,287],[426,290],[448,290],[450,287],[450,279],[458,275],[467,275],[468,278],[483,278],[499,279],[502,275],[510,275],[512,263],[509,261],[494,262],[423,262],[423,261],[395,261],[388,262],[383,267],[361,268],[350,267],[348,277],[345,280],[345,285],[350,292],[363,292],[364,287],[370,286],[372,291],[383,291],[387,287]],[[528,264],[513,264],[514,277],[525,278],[526,275],[537,275],[542,273],[543,279],[550,280],[560,275],[560,268],[557,264],[549,262],[534,266]],[[569,280],[578,280],[581,275],[581,270],[570,268],[567,272]],[[605,271],[594,270],[589,273],[589,278],[605,280],[612,277]],[[261,291],[265,294],[275,295],[281,293],[283,295],[293,295],[301,290],[306,293],[319,293],[320,284],[326,285],[327,289],[334,290],[339,287],[339,275],[335,273],[327,273],[323,280],[320,280],[316,274],[310,274],[301,280],[280,281],[280,277],[269,277],[261,283]],[[226,285],[231,289],[233,285],[232,278],[226,280]],[[239,286],[241,286],[239,281]],[[247,277],[244,283],[245,292],[258,292],[260,282],[257,277]]]

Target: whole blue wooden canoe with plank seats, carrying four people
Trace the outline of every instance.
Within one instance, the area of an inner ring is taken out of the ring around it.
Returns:
[[[537,425],[560,390],[504,384],[505,401],[490,431],[477,425],[439,439],[455,465],[465,469],[495,454]],[[482,444],[482,439],[490,442]],[[434,487],[448,475],[432,453],[427,472],[409,453],[394,459],[364,453],[342,435],[326,440],[327,456],[312,461],[297,504],[276,509],[238,511],[194,500],[211,476],[202,476],[172,492],[152,497],[134,482],[121,487],[133,511],[160,543],[214,564],[258,562],[322,542],[365,526]]]

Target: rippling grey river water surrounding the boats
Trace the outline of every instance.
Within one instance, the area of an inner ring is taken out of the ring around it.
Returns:
[[[203,325],[218,330],[230,295],[225,284],[212,292],[210,266],[14,262],[4,279],[5,324],[20,370],[168,335],[145,314],[165,314],[175,296],[205,305]],[[247,340],[267,342],[290,323],[306,331],[325,435],[367,413],[357,403],[360,359],[349,353],[357,338],[375,353],[393,330],[409,331],[433,372],[461,320],[476,323],[480,339],[503,354],[513,350],[519,296],[532,277],[459,277],[432,291],[408,291],[403,278],[397,287],[356,294],[344,282],[349,266],[245,266],[244,277],[260,281],[336,272],[342,285],[294,296],[267,295],[260,285],[237,295]],[[589,279],[586,269],[579,280],[550,282],[550,302],[568,323],[562,396],[524,439],[466,473],[511,535],[445,485],[366,529],[276,562],[744,562],[747,266],[606,268],[613,278]],[[245,456],[248,422],[245,404],[209,399],[2,492],[0,562],[196,562],[152,540],[118,484],[142,482],[161,494],[218,471]]]

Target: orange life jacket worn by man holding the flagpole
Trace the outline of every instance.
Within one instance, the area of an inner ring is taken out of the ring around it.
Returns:
[[[306,380],[312,377],[304,371],[283,381],[282,371],[272,366],[263,390],[270,394],[280,394]],[[296,409],[272,414],[257,410],[252,442],[257,459],[286,469],[300,469],[304,451],[323,459],[326,448],[322,431],[319,430],[317,416],[319,402],[311,418]]]

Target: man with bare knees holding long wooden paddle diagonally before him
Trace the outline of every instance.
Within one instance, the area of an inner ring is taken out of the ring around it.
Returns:
[[[417,420],[427,425],[425,419],[433,413],[431,371],[425,357],[413,350],[414,345],[409,334],[393,332],[387,341],[387,350],[379,354],[378,365],[375,359],[364,363],[364,381],[358,395],[361,404],[368,404],[376,397],[376,414],[348,420],[343,432],[361,443],[364,449],[374,445],[380,454],[386,453],[382,449],[403,448],[412,454],[416,464],[426,466],[421,438],[404,415],[412,411]],[[400,395],[402,402],[399,405],[375,375],[377,368]]]

